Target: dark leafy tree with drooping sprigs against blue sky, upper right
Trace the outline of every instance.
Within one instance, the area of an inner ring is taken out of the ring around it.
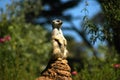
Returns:
[[[83,18],[83,28],[89,34],[91,42],[95,42],[97,39],[100,41],[108,41],[113,44],[113,46],[119,47],[116,44],[118,39],[120,39],[120,1],[119,0],[98,0],[101,4],[102,16],[100,14],[97,15],[96,21],[93,19],[88,19],[87,14]],[[86,12],[86,10],[84,10]],[[98,24],[93,22],[97,22]],[[101,24],[102,23],[102,24]],[[116,40],[115,38],[118,37]],[[119,42],[118,42],[119,43]],[[111,45],[110,44],[110,45]]]

